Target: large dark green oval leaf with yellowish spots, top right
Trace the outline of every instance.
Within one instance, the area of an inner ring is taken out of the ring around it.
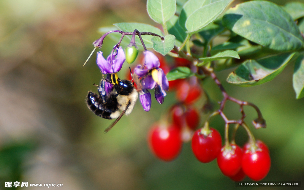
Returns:
[[[272,2],[250,1],[230,8],[223,16],[223,25],[273,50],[297,50],[303,45],[291,16]]]

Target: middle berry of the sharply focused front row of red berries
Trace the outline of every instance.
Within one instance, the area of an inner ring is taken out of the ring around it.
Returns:
[[[228,177],[235,176],[241,169],[243,150],[232,144],[224,146],[217,157],[217,164],[222,173]]]

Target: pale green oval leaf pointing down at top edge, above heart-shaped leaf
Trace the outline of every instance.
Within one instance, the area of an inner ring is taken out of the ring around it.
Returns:
[[[176,11],[175,0],[148,0],[147,11],[152,20],[165,25]]]

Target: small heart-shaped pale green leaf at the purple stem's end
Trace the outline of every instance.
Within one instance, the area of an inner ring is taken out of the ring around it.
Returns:
[[[164,41],[162,41],[160,37],[155,36],[151,39],[151,41],[153,42],[153,49],[155,51],[161,53],[162,55],[166,55],[174,47],[175,36],[168,34],[167,36],[165,36]]]

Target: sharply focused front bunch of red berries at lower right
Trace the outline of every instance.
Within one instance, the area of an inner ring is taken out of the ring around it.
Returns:
[[[221,146],[221,136],[213,128],[199,129],[192,137],[192,150],[195,157],[202,163],[208,163],[217,158],[219,169],[234,181],[241,181],[246,175],[259,181],[268,174],[271,160],[268,147],[262,141],[251,141],[243,148],[235,143]]]

